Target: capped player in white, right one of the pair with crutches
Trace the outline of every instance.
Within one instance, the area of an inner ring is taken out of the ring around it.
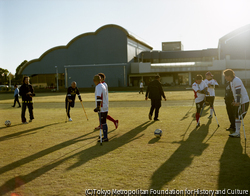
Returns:
[[[218,86],[219,84],[215,79],[213,79],[213,75],[211,72],[206,73],[206,79],[204,80],[205,84],[207,85],[207,91],[209,95],[206,95],[206,101],[209,103],[210,106],[210,115],[209,119],[213,118],[213,108],[214,108],[214,98],[215,98],[215,86]]]

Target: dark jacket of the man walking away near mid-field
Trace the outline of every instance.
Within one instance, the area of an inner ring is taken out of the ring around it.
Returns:
[[[158,99],[161,100],[161,97],[166,98],[161,86],[161,83],[158,80],[154,80],[149,83],[147,88],[146,97],[149,99]]]

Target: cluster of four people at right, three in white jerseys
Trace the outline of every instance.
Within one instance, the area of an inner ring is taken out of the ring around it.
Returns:
[[[230,121],[230,126],[227,131],[233,131],[229,134],[230,137],[240,137],[241,121],[244,119],[248,107],[249,97],[240,78],[235,76],[232,69],[226,69],[223,72],[227,81],[225,91],[225,103],[227,114]],[[195,95],[196,103],[196,121],[197,127],[200,126],[199,120],[202,112],[202,108],[208,104],[210,106],[210,116],[213,117],[214,112],[214,98],[215,98],[215,86],[218,85],[216,80],[213,79],[211,72],[206,73],[206,79],[203,80],[202,75],[196,76],[196,81],[193,83],[193,91]]]

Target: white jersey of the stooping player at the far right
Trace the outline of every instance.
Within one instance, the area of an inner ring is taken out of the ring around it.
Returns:
[[[240,94],[241,94],[241,104],[247,103],[249,102],[249,97],[247,94],[247,90],[244,87],[242,81],[240,78],[238,77],[234,77],[234,79],[230,82],[231,85],[231,89],[233,92],[233,96],[234,96],[234,101],[237,102],[237,97],[236,97],[236,90],[237,89],[241,89]]]

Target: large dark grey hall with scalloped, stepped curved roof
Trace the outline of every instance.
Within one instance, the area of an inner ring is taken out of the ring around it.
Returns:
[[[118,25],[105,25],[92,33],[81,34],[66,46],[44,52],[38,59],[27,62],[19,74],[31,76],[31,82],[67,87],[77,81],[78,87],[91,87],[93,76],[106,74],[111,87],[127,86],[130,61],[152,47]]]

